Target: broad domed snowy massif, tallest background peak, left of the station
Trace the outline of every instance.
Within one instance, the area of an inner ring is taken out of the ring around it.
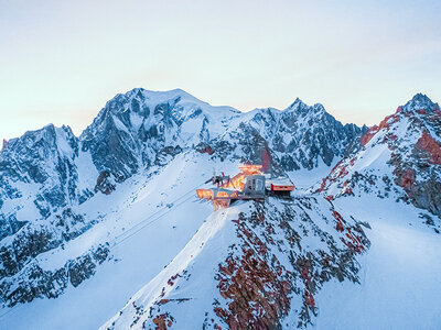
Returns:
[[[133,89],[107,102],[79,139],[99,172],[127,178],[161,164],[164,155],[207,142],[216,125],[237,116],[237,110],[211,107],[182,90]]]

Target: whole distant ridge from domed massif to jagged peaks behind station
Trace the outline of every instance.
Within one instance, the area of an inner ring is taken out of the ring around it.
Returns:
[[[323,106],[309,107],[299,99],[283,111],[240,113],[211,107],[182,90],[133,89],[110,100],[80,141],[98,170],[129,177],[140,168],[163,164],[161,156],[189,147],[222,160],[257,162],[262,150],[269,150],[275,166],[283,170],[330,166],[362,133],[354,124],[336,121]]]

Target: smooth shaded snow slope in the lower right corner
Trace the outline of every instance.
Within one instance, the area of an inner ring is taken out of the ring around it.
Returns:
[[[344,198],[335,205],[369,222],[372,248],[359,258],[361,285],[334,282],[318,294],[313,328],[439,329],[440,235],[421,223],[412,206],[376,197]]]

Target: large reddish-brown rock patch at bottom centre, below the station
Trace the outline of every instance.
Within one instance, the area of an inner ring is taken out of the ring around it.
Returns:
[[[265,245],[256,237],[252,243],[258,251]],[[217,287],[220,296],[230,301],[227,308],[216,307],[214,312],[229,329],[272,329],[280,317],[288,315],[291,284],[282,279],[283,267],[272,271],[252,249],[243,251],[239,260],[229,257],[219,265]]]

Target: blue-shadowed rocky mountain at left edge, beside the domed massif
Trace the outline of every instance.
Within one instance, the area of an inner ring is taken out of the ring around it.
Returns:
[[[0,153],[2,237],[17,232],[18,223],[47,218],[90,195],[78,185],[78,147],[68,127],[52,124],[6,144]]]

